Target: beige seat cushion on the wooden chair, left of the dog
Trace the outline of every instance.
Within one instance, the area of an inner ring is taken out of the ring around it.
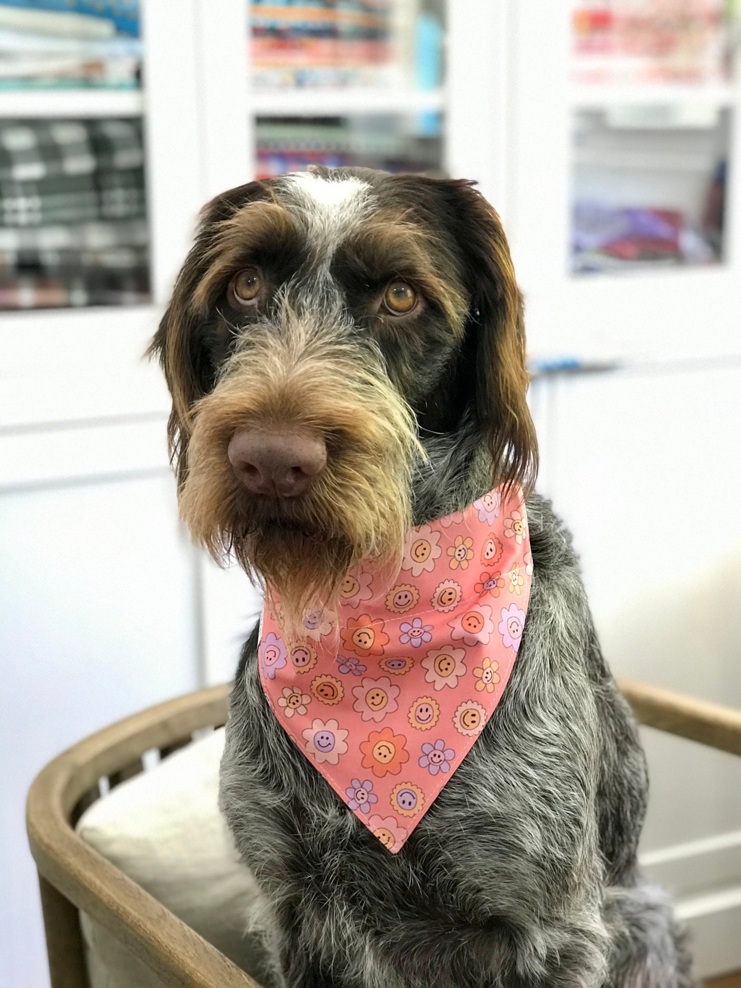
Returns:
[[[248,936],[259,894],[217,807],[223,728],[97,800],[80,835],[183,922],[263,982],[266,956]],[[105,929],[83,916],[91,988],[161,988]]]

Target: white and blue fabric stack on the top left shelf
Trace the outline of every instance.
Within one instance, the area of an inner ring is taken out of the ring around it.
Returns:
[[[0,89],[139,85],[138,0],[0,0]]]

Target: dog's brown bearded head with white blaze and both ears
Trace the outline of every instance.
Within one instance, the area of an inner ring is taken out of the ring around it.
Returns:
[[[316,170],[217,197],[152,349],[183,517],[287,617],[398,557],[428,437],[465,425],[492,486],[532,483],[520,295],[468,182]]]

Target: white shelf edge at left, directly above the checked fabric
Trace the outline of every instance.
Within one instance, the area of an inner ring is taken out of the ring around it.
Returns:
[[[0,92],[0,119],[25,117],[140,117],[138,89],[32,89]]]

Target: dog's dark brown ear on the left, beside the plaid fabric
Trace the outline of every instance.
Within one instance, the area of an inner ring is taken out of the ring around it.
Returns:
[[[228,219],[240,206],[268,196],[264,183],[250,182],[222,193],[204,206],[196,242],[178,275],[170,304],[147,351],[150,356],[157,357],[162,365],[172,395],[167,434],[170,458],[179,485],[188,472],[187,453],[193,426],[193,406],[213,386],[213,368],[200,333],[204,314],[194,302],[194,294],[206,273],[206,255],[214,226]]]

